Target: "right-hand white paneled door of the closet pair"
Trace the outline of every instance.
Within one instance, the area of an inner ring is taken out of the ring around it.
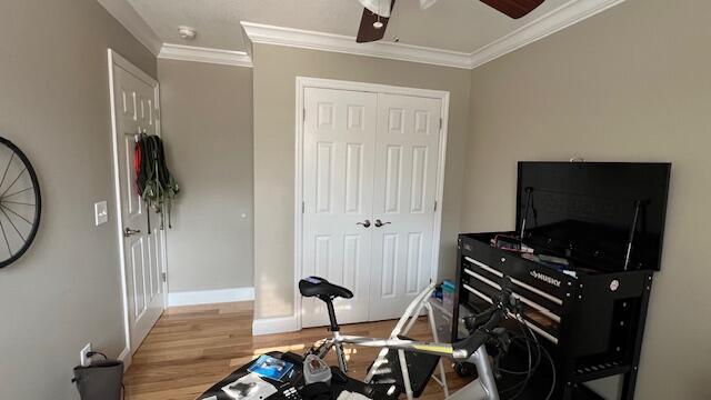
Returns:
[[[371,321],[399,318],[431,277],[441,107],[378,96]]]

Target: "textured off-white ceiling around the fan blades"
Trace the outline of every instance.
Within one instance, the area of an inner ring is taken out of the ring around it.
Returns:
[[[354,37],[363,8],[358,0],[126,0],[167,43],[246,50],[240,21]],[[547,0],[512,20],[477,0],[440,0],[422,11],[419,0],[398,0],[385,40],[472,52],[569,2]],[[179,26],[198,30],[186,41]]]

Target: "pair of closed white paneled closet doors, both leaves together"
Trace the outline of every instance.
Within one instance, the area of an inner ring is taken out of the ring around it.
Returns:
[[[430,281],[442,100],[306,88],[303,276],[353,291],[341,323],[399,318]],[[303,299],[302,326],[328,322]]]

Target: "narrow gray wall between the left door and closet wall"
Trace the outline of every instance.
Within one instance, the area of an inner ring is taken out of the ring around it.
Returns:
[[[161,59],[158,77],[181,190],[168,232],[169,291],[251,287],[252,69]]]

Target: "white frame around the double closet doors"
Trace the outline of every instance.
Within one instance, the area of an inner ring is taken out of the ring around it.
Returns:
[[[439,272],[440,259],[440,234],[442,231],[442,194],[444,192],[444,166],[447,156],[447,133],[449,121],[449,92],[442,90],[415,89],[405,87],[394,87],[388,84],[365,83],[342,81],[332,79],[297,77],[297,108],[296,108],[296,166],[294,166],[294,276],[293,276],[293,320],[296,330],[301,330],[301,293],[297,289],[299,280],[303,278],[303,122],[304,122],[304,101],[303,93],[307,88],[318,89],[336,89],[350,90],[372,93],[402,94],[412,97],[423,97],[430,99],[439,99],[442,101],[442,127],[440,129],[440,153],[437,166],[437,193],[434,201],[437,209],[434,210],[434,232],[432,234],[432,270],[430,278],[437,280]]]

